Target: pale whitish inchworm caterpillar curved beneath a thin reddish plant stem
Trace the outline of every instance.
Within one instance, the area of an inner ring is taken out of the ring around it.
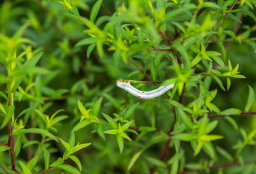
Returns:
[[[128,80],[117,80],[117,86],[119,88],[123,88],[125,91],[128,91],[128,93],[133,94],[133,96],[136,96],[140,99],[152,99],[165,94],[165,92],[167,92],[170,88],[173,88],[174,83],[167,86],[160,86],[159,88],[156,88],[152,91],[140,91],[139,89],[131,86],[131,83]]]

